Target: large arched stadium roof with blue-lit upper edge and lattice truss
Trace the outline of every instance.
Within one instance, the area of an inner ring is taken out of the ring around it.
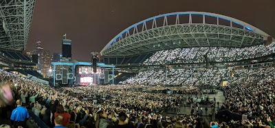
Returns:
[[[249,47],[267,41],[254,26],[209,12],[174,12],[131,25],[115,36],[101,56],[131,56],[177,47]]]

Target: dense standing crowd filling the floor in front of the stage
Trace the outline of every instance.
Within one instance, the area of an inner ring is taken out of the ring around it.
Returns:
[[[198,114],[162,116],[162,111],[178,111],[184,101],[176,94],[146,93],[133,86],[61,87],[54,89],[1,70],[2,81],[12,83],[14,99],[21,99],[46,125],[62,115],[65,127],[196,127]],[[151,88],[164,89],[164,87]],[[175,92],[197,92],[177,87]],[[87,98],[92,98],[89,100]],[[3,112],[3,111],[2,111]]]

